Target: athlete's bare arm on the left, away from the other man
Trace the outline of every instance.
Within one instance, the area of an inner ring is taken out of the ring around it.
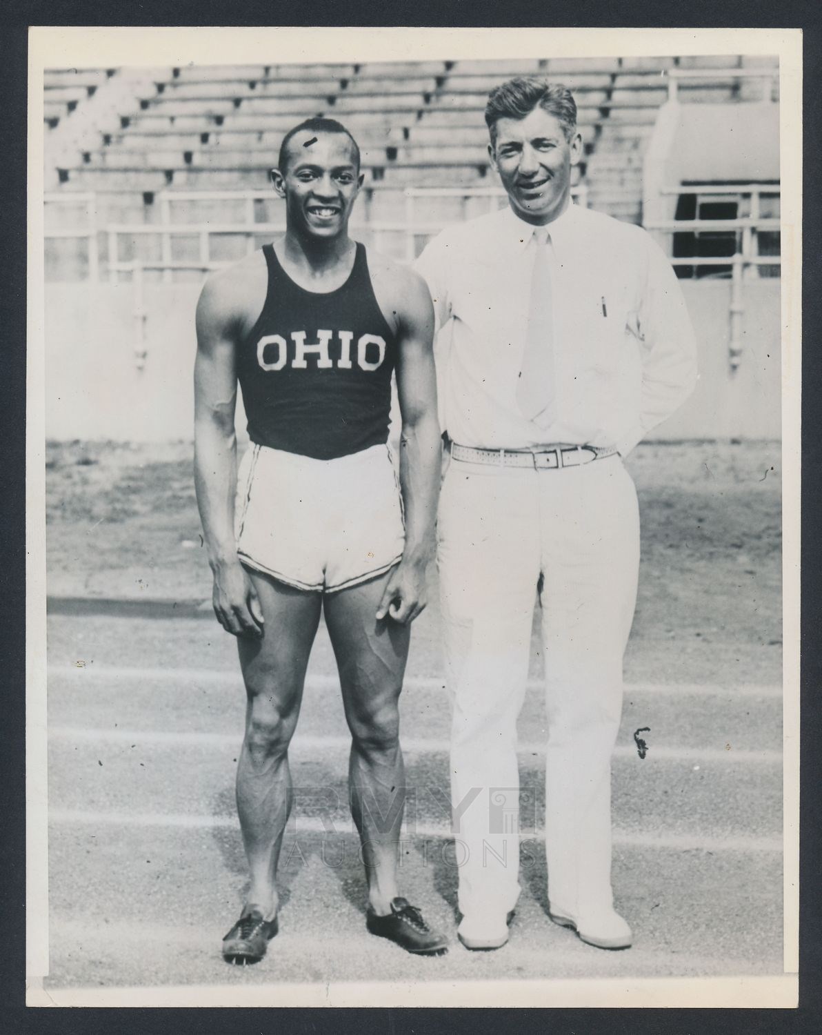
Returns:
[[[258,256],[217,273],[203,288],[196,308],[194,484],[214,573],[214,613],[234,635],[261,635],[263,624],[263,611],[237,557],[234,535],[236,350],[249,320],[253,321],[262,308],[265,263],[262,279],[260,274]]]

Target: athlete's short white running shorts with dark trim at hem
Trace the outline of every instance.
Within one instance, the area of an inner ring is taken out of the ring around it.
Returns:
[[[388,446],[315,460],[251,443],[235,533],[243,564],[297,589],[333,593],[388,571],[405,542]]]

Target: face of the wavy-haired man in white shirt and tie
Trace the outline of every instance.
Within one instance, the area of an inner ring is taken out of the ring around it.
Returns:
[[[511,207],[526,223],[555,219],[568,205],[571,169],[582,157],[580,135],[569,141],[556,116],[542,108],[524,119],[498,119],[495,130],[488,152]]]

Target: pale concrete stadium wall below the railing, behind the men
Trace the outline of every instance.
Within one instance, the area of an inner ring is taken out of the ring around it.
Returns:
[[[700,382],[654,439],[781,436],[780,282],[744,286],[744,346],[728,373],[730,285],[682,288],[700,351]],[[50,439],[170,441],[192,437],[194,284],[148,284],[147,357],[134,356],[130,284],[45,285],[45,414]],[[245,418],[239,407],[238,428]]]

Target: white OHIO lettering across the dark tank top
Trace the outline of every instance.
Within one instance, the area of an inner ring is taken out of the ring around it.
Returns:
[[[256,343],[256,361],[266,372],[281,371],[377,371],[386,358],[386,339],[379,334],[360,334],[355,342],[351,330],[317,330],[308,341],[304,330],[290,334],[264,334]]]

